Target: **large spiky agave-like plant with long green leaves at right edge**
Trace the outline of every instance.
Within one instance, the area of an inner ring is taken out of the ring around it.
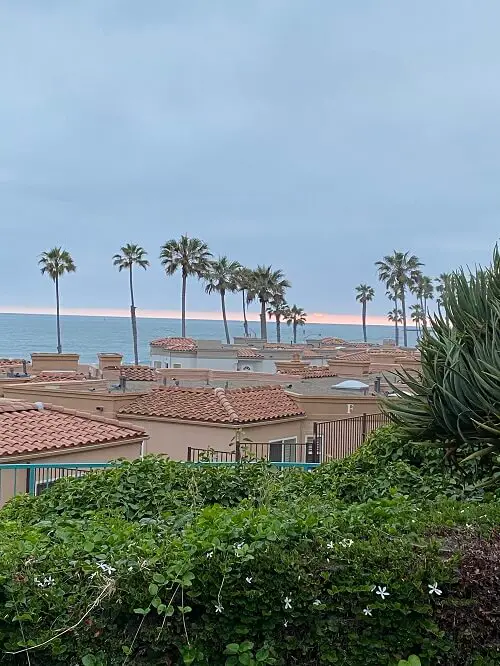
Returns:
[[[398,373],[384,409],[410,436],[486,461],[500,453],[498,248],[490,267],[452,273],[442,297],[420,340],[421,371]]]

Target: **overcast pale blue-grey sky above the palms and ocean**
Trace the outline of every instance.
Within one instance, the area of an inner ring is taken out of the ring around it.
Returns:
[[[126,310],[128,242],[151,261],[139,313],[177,311],[158,255],[183,233],[281,268],[320,320],[357,316],[360,282],[385,315],[374,262],[394,249],[432,276],[486,263],[499,24],[494,0],[3,0],[0,311],[53,307],[55,245],[79,312]],[[190,282],[191,312],[218,308]]]

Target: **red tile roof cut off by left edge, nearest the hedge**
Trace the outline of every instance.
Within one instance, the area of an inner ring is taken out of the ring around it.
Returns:
[[[128,423],[42,404],[0,400],[0,457],[147,438]]]

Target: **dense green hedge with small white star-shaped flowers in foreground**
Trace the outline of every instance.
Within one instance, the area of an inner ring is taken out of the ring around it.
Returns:
[[[393,428],[312,473],[63,480],[0,512],[1,663],[491,666],[499,524]]]

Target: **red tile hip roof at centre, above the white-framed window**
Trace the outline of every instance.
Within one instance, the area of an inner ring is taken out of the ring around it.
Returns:
[[[305,414],[281,386],[240,389],[160,387],[130,402],[120,413],[235,424]]]

